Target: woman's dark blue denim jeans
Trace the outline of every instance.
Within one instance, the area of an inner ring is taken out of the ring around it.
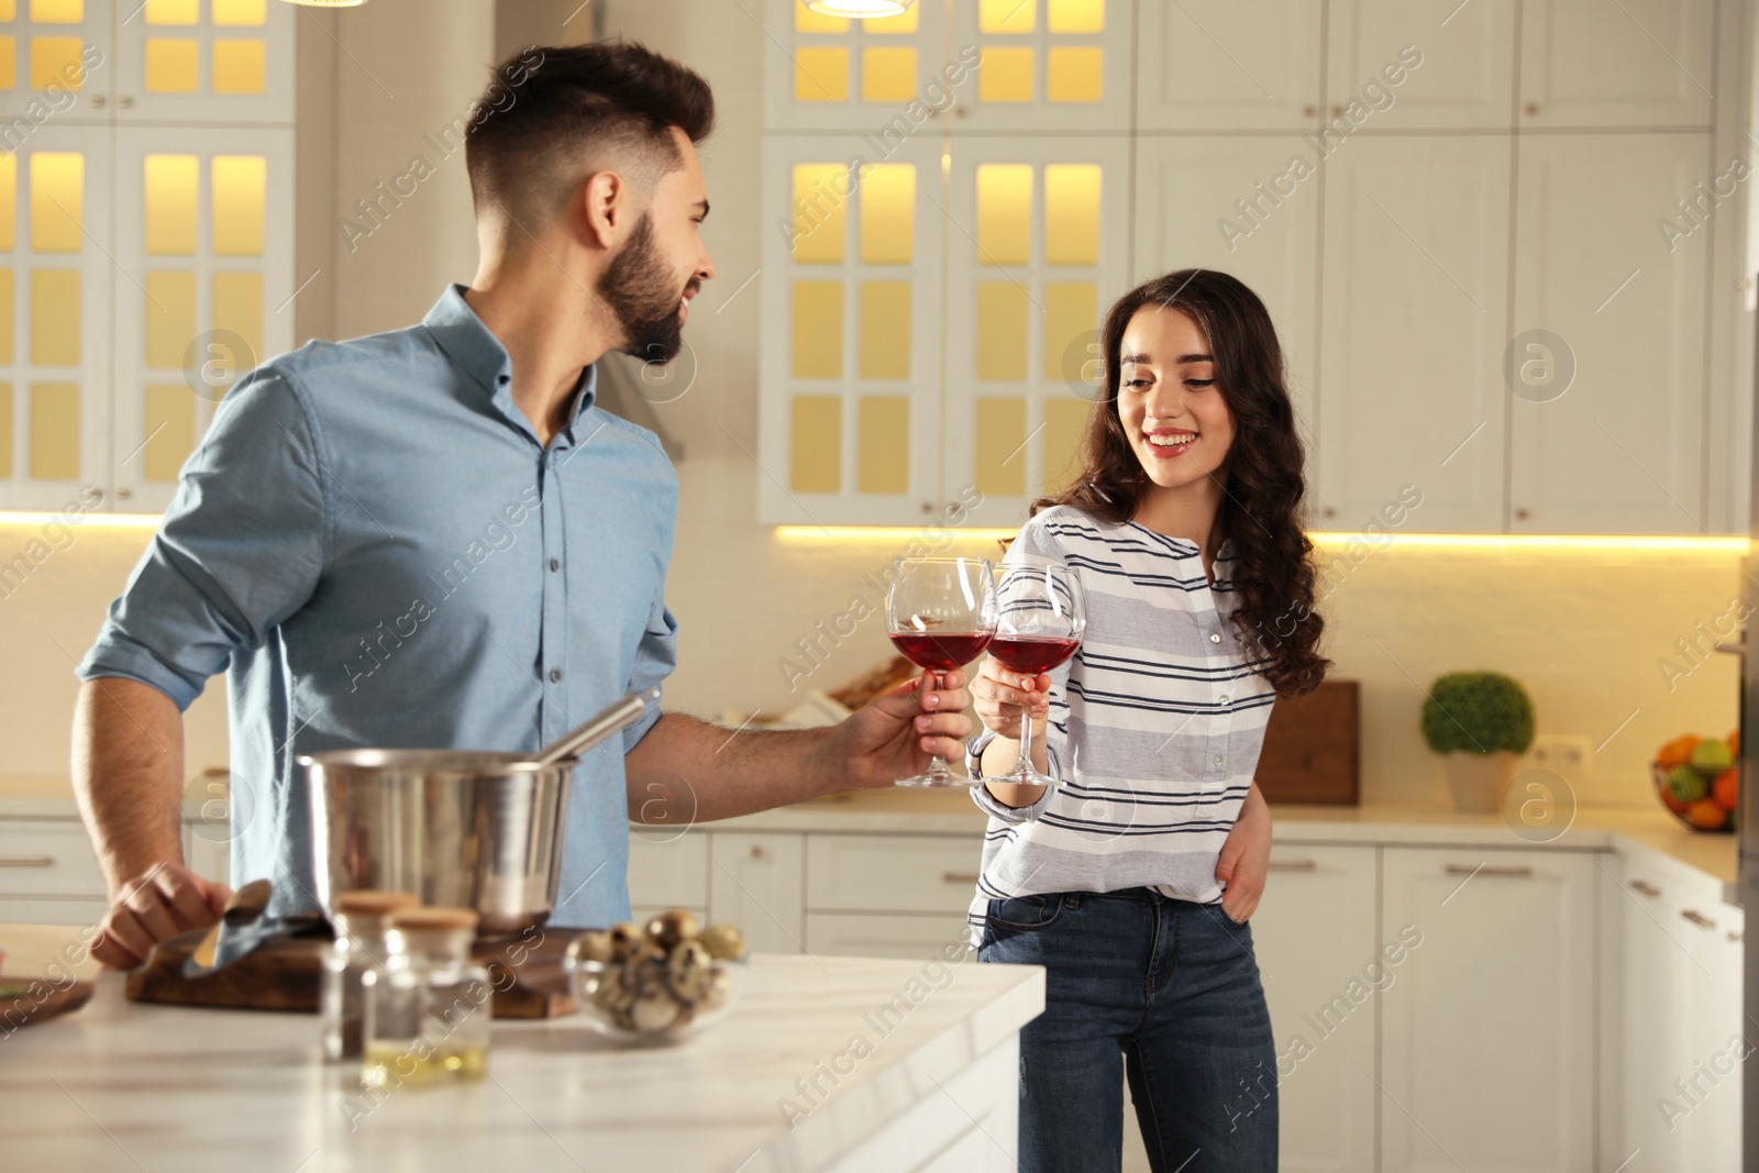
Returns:
[[[1117,1169],[1124,1089],[1154,1173],[1274,1173],[1277,1052],[1252,930],[1149,888],[990,900],[978,960],[1043,965],[1020,1032],[1020,1173]]]

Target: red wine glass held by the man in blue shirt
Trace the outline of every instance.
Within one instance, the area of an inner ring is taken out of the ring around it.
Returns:
[[[996,568],[987,557],[901,557],[885,600],[885,630],[899,654],[932,674],[962,668],[996,635]],[[969,779],[934,754],[929,769],[897,786],[964,786]]]

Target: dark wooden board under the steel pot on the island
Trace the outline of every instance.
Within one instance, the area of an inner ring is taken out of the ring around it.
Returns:
[[[329,937],[276,936],[253,951],[201,978],[185,978],[183,962],[204,934],[162,941],[123,985],[130,1002],[208,1006],[220,1009],[273,1009],[318,1013],[318,981]],[[572,1015],[573,997],[561,958],[575,930],[549,929],[528,937],[480,939],[471,950],[489,967],[496,1018],[559,1018]]]

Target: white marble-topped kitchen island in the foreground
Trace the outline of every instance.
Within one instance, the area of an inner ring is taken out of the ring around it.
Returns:
[[[0,1036],[0,1166],[1011,1171],[1045,974],[941,960],[755,955],[726,1020],[677,1046],[496,1022],[487,1080],[378,1099],[322,1062],[311,1015],[130,1004],[104,974]]]

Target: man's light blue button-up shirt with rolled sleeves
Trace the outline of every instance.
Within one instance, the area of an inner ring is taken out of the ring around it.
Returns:
[[[454,285],[252,371],[185,464],[79,675],[186,709],[230,672],[232,883],[271,878],[273,913],[317,907],[299,754],[536,749],[672,672],[677,473],[595,378],[545,448]],[[630,914],[623,754],[654,721],[575,772],[558,923]]]

